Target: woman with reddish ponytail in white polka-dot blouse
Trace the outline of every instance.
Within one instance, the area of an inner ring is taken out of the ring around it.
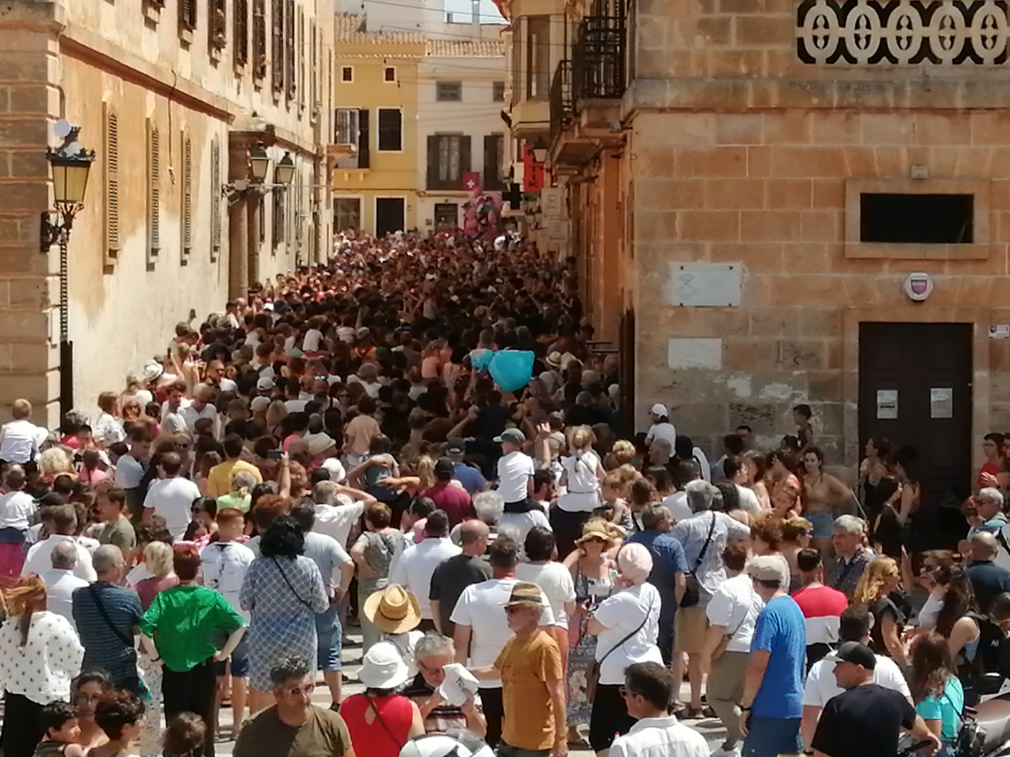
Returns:
[[[0,626],[0,687],[4,694],[0,751],[31,757],[45,733],[38,714],[53,701],[70,701],[84,647],[70,621],[45,610],[45,584],[34,573],[5,592],[7,620]]]

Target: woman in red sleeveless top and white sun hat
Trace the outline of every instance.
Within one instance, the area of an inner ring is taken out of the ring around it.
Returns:
[[[351,744],[368,744],[369,757],[398,757],[410,739],[424,735],[417,705],[394,691],[408,678],[407,664],[392,642],[374,644],[362,660],[359,677],[365,693],[340,705]]]

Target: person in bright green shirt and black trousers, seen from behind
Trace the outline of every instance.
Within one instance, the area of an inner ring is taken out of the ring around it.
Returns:
[[[228,658],[245,631],[241,616],[212,588],[196,582],[200,552],[195,544],[177,544],[173,565],[179,585],[155,597],[140,619],[140,643],[164,671],[162,695],[165,718],[196,713],[208,724],[204,757],[214,756],[214,698],[217,676],[214,662]],[[214,647],[214,632],[230,636],[224,647]]]

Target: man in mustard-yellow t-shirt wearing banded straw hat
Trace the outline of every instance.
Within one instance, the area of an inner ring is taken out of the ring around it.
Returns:
[[[566,757],[565,678],[558,643],[539,627],[540,587],[518,582],[505,604],[514,636],[495,664],[472,670],[501,678],[505,720],[498,757]]]

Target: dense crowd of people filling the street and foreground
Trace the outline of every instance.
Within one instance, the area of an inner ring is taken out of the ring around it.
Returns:
[[[918,552],[914,449],[853,492],[806,405],[770,451],[634,433],[578,291],[518,237],[350,235],[59,431],[15,402],[5,757],[212,757],[222,707],[238,757],[703,757],[705,717],[718,757],[951,750],[1010,629],[1008,440]]]

